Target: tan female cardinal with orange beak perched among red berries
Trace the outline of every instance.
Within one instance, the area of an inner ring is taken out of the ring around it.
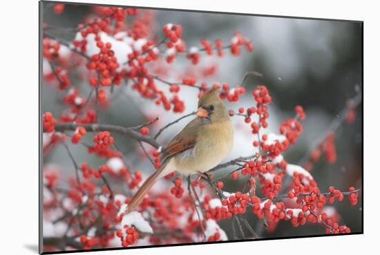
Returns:
[[[159,178],[173,171],[184,176],[206,173],[229,154],[233,144],[234,126],[229,111],[220,99],[218,90],[212,88],[198,100],[196,117],[164,149],[162,164],[131,198],[126,214],[140,205]]]

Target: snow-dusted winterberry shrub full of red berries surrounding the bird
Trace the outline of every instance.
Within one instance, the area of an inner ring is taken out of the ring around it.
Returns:
[[[52,10],[63,15],[66,8],[57,3]],[[66,41],[57,30],[74,37]],[[57,91],[57,108],[44,109],[42,149],[44,158],[64,149],[61,156],[71,165],[67,171],[59,164],[44,164],[42,169],[46,251],[262,238],[263,231],[275,232],[279,224],[319,225],[326,234],[351,232],[333,206],[345,200],[357,206],[361,187],[336,184],[322,189],[331,185],[329,180],[314,178],[311,170],[321,160],[334,164],[339,157],[335,131],[356,121],[360,96],[343,107],[346,122],[334,123],[307,160],[295,164],[286,155],[304,134],[303,106],[294,102],[294,114],[272,125],[270,87],[247,86],[246,78],[256,72],[232,85],[204,81],[215,73],[214,66],[202,62],[207,57],[234,62],[239,55],[251,54],[254,44],[245,35],[231,33],[229,41],[199,38],[198,44],[188,45],[181,24],[157,24],[150,10],[103,6],[91,8],[76,28],[44,23],[43,32],[43,86]],[[198,71],[181,73],[176,65],[180,58],[188,68],[200,66]],[[122,107],[135,104],[137,112],[145,102],[152,103],[142,111],[144,123],[126,127],[115,122],[130,117],[124,109],[112,123],[107,119],[113,108],[121,107],[116,103],[124,88],[130,93]],[[194,110],[183,99],[184,88],[197,91],[198,97],[218,89],[234,123],[249,129],[245,141],[255,152],[240,151],[238,158],[205,175],[171,173],[151,189],[137,211],[126,214],[145,173],[160,167],[162,131],[193,116],[184,115]],[[243,97],[249,106],[240,104]],[[162,122],[157,109],[178,117]],[[131,141],[128,152],[117,146],[125,139]],[[84,160],[84,155],[95,160]],[[150,167],[138,169],[136,160]],[[231,226],[228,231],[221,227],[226,225]]]

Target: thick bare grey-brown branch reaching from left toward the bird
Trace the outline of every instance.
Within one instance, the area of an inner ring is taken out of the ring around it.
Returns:
[[[83,126],[86,131],[97,132],[97,131],[111,131],[115,133],[121,133],[122,135],[127,135],[137,141],[146,142],[159,149],[161,145],[154,140],[150,135],[142,135],[135,131],[134,128],[125,128],[124,126],[115,126],[110,124],[76,124],[76,123],[64,123],[57,124],[55,126],[55,131],[75,131],[79,126]]]

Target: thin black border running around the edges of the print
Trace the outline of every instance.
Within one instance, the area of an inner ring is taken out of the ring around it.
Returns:
[[[169,11],[181,11],[181,12],[200,12],[200,13],[211,13],[211,14],[225,14],[225,15],[239,15],[239,16],[256,16],[256,17],[275,17],[275,18],[284,18],[284,19],[311,19],[311,20],[319,20],[319,21],[343,21],[343,22],[353,22],[353,23],[361,23],[361,135],[362,135],[362,143],[361,143],[361,232],[352,232],[349,234],[314,234],[314,235],[305,235],[305,236],[285,236],[285,237],[272,237],[272,238],[258,238],[258,239],[245,239],[245,240],[225,240],[225,241],[215,241],[215,242],[207,242],[207,243],[176,243],[170,245],[146,245],[146,246],[133,246],[133,247],[111,247],[111,248],[102,248],[102,249],[77,249],[77,250],[69,250],[69,251],[57,251],[57,252],[44,252],[44,235],[43,235],[43,207],[42,207],[42,198],[43,198],[43,174],[42,174],[42,157],[41,153],[41,144],[42,144],[42,61],[43,57],[41,57],[42,53],[42,39],[43,39],[43,5],[44,3],[65,3],[71,5],[82,5],[82,6],[112,6],[112,7],[131,7],[131,8],[139,8],[139,9],[148,9],[148,10],[169,10]],[[38,130],[39,130],[39,254],[65,254],[65,253],[73,253],[73,252],[99,252],[99,251],[113,251],[113,250],[126,250],[126,249],[144,249],[144,248],[156,248],[156,247],[175,247],[175,246],[184,246],[184,245],[209,245],[209,244],[222,244],[222,243],[242,243],[242,242],[253,242],[253,241],[265,241],[265,240],[285,240],[285,239],[298,239],[298,238],[314,238],[314,237],[332,237],[332,236],[348,236],[348,235],[359,235],[364,234],[364,21],[358,20],[349,20],[349,19],[323,19],[323,18],[314,18],[314,17],[294,17],[294,16],[281,16],[281,15],[260,15],[253,13],[241,13],[241,12],[219,12],[219,11],[209,11],[209,10],[186,10],[186,9],[175,9],[175,8],[157,8],[157,7],[144,7],[144,6],[129,6],[129,5],[115,5],[115,4],[102,4],[102,3],[80,3],[80,2],[70,2],[70,1],[46,1],[39,0],[39,33],[38,33],[38,45],[39,45],[39,111],[38,111]]]

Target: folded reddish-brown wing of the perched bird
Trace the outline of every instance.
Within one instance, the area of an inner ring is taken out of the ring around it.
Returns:
[[[188,149],[192,149],[196,146],[196,141],[198,138],[198,131],[204,123],[198,119],[194,119],[187,126],[178,133],[178,135],[169,142],[167,148],[162,154],[162,159],[166,160],[167,158],[171,158],[183,151]]]

